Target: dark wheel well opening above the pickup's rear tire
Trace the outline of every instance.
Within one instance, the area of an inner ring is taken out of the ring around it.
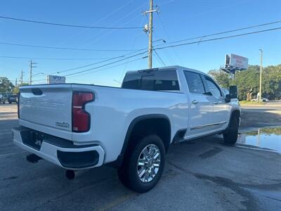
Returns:
[[[122,149],[123,154],[126,154],[138,140],[147,136],[149,134],[156,134],[162,139],[165,150],[167,151],[171,141],[171,124],[167,117],[164,116],[150,116],[139,117],[131,123],[128,132],[126,134],[126,139],[124,141],[124,146]]]

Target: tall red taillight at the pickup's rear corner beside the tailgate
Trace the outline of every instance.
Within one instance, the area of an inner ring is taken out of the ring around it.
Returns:
[[[72,94],[72,132],[87,132],[90,129],[91,115],[85,104],[94,100],[91,92],[74,91]]]

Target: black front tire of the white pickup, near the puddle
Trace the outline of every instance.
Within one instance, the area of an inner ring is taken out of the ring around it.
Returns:
[[[228,145],[234,145],[238,138],[239,120],[236,115],[233,115],[229,122],[228,131],[223,134],[223,141]]]

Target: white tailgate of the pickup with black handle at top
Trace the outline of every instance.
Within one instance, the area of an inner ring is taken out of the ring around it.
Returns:
[[[71,84],[20,87],[20,120],[72,131]]]

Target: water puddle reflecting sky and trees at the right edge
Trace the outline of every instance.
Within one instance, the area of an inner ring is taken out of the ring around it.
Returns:
[[[281,153],[281,127],[268,127],[242,133],[238,136],[237,143]]]

